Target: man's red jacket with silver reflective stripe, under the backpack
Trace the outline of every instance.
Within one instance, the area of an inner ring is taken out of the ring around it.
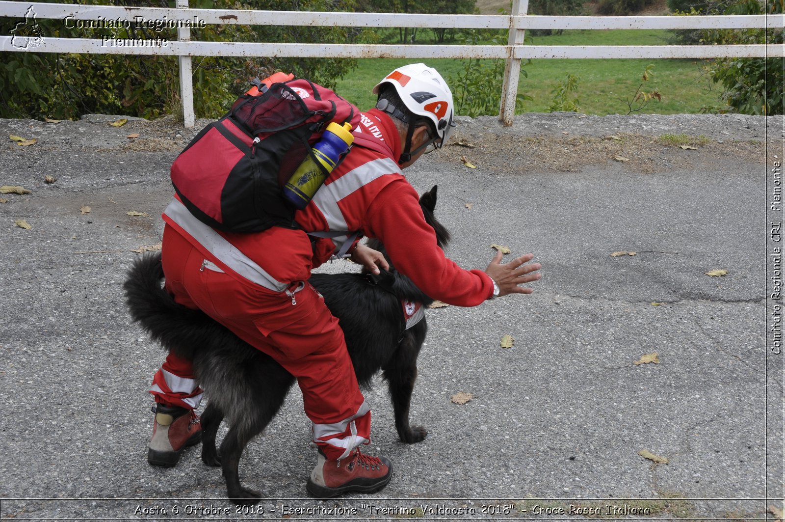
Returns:
[[[257,233],[217,232],[275,280],[293,282],[308,279],[312,268],[330,259],[346,238],[319,239],[312,246],[304,230],[359,231],[382,241],[396,269],[434,299],[471,307],[489,298],[491,278],[482,270],[463,270],[436,245],[436,233],[425,222],[418,194],[401,174],[398,155],[393,153],[400,151],[400,138],[392,119],[371,109],[363,114],[360,133],[382,147],[367,148],[357,140],[308,206],[296,212],[303,230],[273,227]],[[169,216],[163,218],[197,248],[201,246]],[[228,269],[221,259],[200,250]]]

